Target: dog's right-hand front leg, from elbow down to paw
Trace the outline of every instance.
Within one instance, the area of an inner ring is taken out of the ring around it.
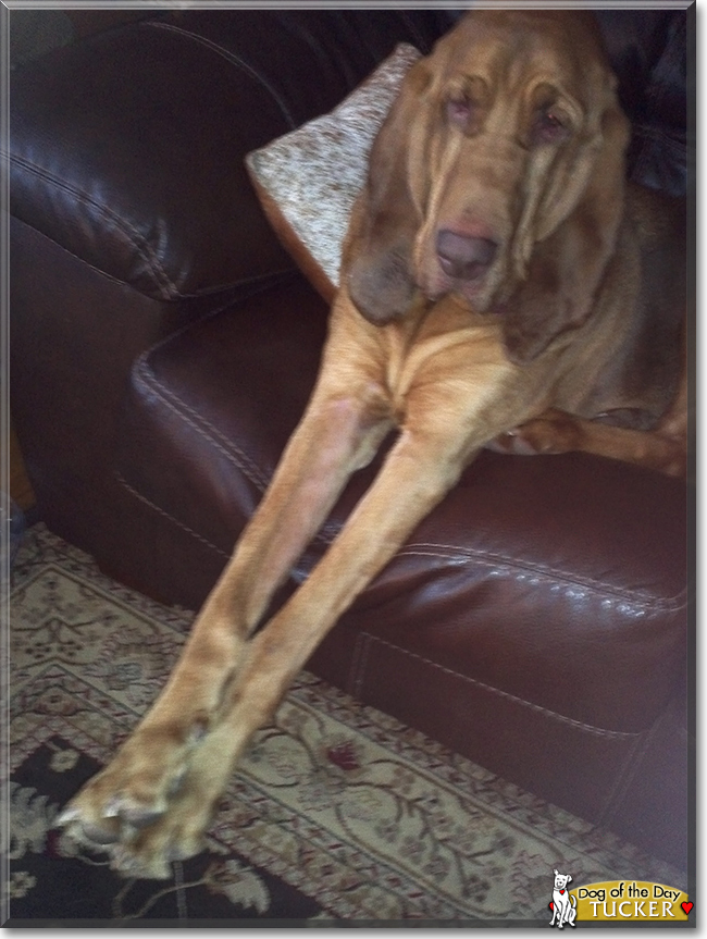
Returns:
[[[223,717],[203,742],[170,812],[121,849],[127,872],[156,872],[201,844],[234,764],[274,714],[292,679],[339,615],[455,484],[466,460],[459,441],[404,431],[371,490],[308,580],[247,643]],[[154,876],[154,875],[152,875]]]

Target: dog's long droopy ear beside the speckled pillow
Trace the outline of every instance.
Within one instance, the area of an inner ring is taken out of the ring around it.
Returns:
[[[414,293],[411,252],[422,215],[411,174],[419,176],[412,164],[424,148],[419,101],[429,79],[424,60],[405,77],[373,144],[367,186],[344,254],[349,295],[376,325],[402,317]]]

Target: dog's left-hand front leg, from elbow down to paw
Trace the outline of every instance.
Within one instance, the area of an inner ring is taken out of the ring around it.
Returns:
[[[90,844],[129,844],[168,811],[188,774],[193,752],[209,739],[248,634],[351,472],[370,461],[389,427],[384,403],[368,378],[359,388],[347,375],[343,387],[336,374],[324,370],[273,482],[197,618],[163,692],[114,759],[58,819],[72,837]],[[183,842],[165,850],[195,853],[197,844]],[[132,856],[129,850],[124,855]],[[164,876],[164,855],[154,856],[140,873]]]

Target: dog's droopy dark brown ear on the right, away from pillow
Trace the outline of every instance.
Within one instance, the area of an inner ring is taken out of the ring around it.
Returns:
[[[578,203],[534,246],[528,276],[506,306],[504,339],[512,361],[532,361],[592,311],[623,215],[628,139],[628,121],[612,102],[601,118],[598,152],[584,158],[593,166]],[[574,177],[581,172],[576,166]]]

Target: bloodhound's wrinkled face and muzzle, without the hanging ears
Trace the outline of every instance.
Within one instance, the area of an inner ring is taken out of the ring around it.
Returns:
[[[430,298],[456,291],[480,311],[503,301],[584,190],[613,83],[593,33],[576,25],[484,11],[432,57],[443,65],[421,101],[427,185],[413,250]]]

